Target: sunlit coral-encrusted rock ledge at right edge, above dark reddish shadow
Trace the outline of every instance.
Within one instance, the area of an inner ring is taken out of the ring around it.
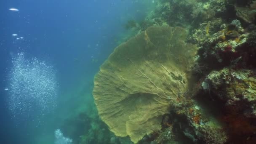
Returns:
[[[237,106],[245,117],[256,117],[256,73],[250,69],[221,69],[206,78],[211,91],[226,102],[227,107]],[[238,107],[239,106],[239,107]]]

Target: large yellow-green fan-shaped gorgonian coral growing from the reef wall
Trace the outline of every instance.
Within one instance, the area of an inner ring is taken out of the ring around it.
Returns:
[[[187,72],[197,48],[186,38],[181,27],[149,27],[115,48],[101,65],[93,96],[116,136],[137,143],[161,129],[162,116],[188,89]]]

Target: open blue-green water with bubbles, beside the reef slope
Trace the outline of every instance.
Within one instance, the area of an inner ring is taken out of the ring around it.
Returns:
[[[150,6],[0,1],[0,144],[53,144],[61,122],[93,107],[94,75],[128,33],[125,22],[144,19]]]

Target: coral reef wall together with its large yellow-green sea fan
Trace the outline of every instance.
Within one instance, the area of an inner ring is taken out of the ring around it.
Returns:
[[[139,144],[256,143],[256,0],[155,4],[95,77],[101,119]]]

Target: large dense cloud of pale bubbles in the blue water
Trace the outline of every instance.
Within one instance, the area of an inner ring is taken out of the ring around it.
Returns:
[[[56,106],[56,70],[44,61],[26,59],[24,53],[12,58],[8,75],[8,106],[13,117],[40,117]]]

